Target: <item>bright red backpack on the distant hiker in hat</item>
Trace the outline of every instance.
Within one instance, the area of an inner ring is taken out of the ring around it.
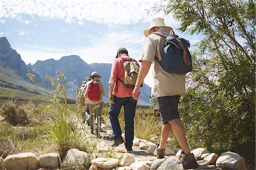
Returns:
[[[88,85],[87,97],[90,100],[99,100],[101,98],[101,89],[97,81],[92,81]]]

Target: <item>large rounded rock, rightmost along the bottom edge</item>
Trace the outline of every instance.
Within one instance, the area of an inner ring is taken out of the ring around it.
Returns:
[[[222,169],[246,169],[246,164],[242,156],[234,152],[225,152],[218,157],[216,167]]]

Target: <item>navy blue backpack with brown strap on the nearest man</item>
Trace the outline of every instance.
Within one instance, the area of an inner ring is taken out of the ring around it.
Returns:
[[[164,36],[162,32],[153,32],[166,38],[162,51],[162,60],[156,61],[168,73],[184,74],[192,71],[192,58],[188,51],[190,43],[188,40],[179,38],[174,31],[169,36]]]

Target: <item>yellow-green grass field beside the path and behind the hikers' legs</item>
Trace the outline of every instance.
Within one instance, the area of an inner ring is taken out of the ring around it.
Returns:
[[[0,151],[2,151],[2,154],[5,151],[5,156],[18,152],[33,152],[36,155],[59,152],[63,157],[69,148],[77,148],[88,154],[94,152],[96,157],[102,155],[111,156],[111,151],[106,151],[106,153],[98,152],[96,145],[99,141],[87,139],[86,135],[88,134],[86,134],[86,131],[77,127],[81,119],[81,110],[75,104],[67,103],[64,75],[59,73],[57,83],[55,80],[51,80],[54,95],[48,98],[47,103],[46,101],[43,103],[34,101],[31,96],[23,92],[24,96],[30,101],[19,101],[18,105],[16,105],[17,109],[23,109],[28,115],[27,125],[11,126],[9,123],[0,121]],[[7,96],[7,94],[9,92],[0,91],[0,95]],[[16,94],[16,96],[19,95]],[[108,113],[109,106],[104,107],[102,118],[106,125],[110,125]],[[160,120],[152,115],[152,109],[137,109],[134,119],[134,132],[137,138],[153,142],[159,141]],[[0,119],[2,118],[3,115]],[[123,109],[121,109],[119,115],[119,122],[122,131],[124,131]]]

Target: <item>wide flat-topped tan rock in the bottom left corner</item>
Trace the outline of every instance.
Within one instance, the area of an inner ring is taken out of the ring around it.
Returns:
[[[3,160],[3,169],[7,170],[33,170],[39,165],[38,158],[31,152],[9,155]]]

